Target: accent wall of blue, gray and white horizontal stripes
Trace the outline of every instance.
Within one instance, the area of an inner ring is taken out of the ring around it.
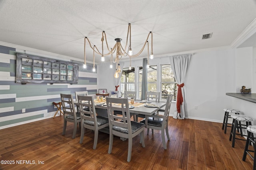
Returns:
[[[75,91],[95,95],[97,73],[89,71],[92,64],[87,63],[86,69],[82,64],[78,84],[15,83],[16,49],[0,45],[0,129],[53,117],[57,108],[52,102],[60,102],[60,93],[72,94],[74,99]]]

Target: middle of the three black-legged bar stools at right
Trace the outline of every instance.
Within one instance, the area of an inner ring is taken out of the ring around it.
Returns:
[[[231,127],[230,137],[229,140],[232,140],[232,147],[235,147],[235,139],[246,141],[246,139],[240,139],[236,138],[236,135],[241,135],[241,137],[247,136],[243,135],[242,129],[246,129],[249,125],[252,125],[252,117],[246,116],[246,115],[231,115],[231,118],[233,118],[233,123]],[[242,124],[241,121],[245,121],[246,124]],[[240,129],[240,134],[236,133],[236,128]]]

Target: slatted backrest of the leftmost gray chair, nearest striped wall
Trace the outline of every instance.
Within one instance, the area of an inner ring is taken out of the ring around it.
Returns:
[[[64,119],[67,115],[72,115],[74,116],[74,119],[76,119],[76,109],[72,94],[60,94],[60,99],[62,102]]]

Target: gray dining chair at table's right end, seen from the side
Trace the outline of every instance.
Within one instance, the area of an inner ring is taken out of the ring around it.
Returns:
[[[167,98],[164,115],[146,115],[145,119],[140,121],[140,123],[145,123],[146,128],[156,129],[161,131],[162,144],[164,146],[164,149],[167,149],[165,138],[164,138],[164,130],[166,131],[166,136],[168,141],[170,140],[169,132],[168,132],[168,117],[169,117],[171,103],[172,103],[172,95],[168,96]],[[153,118],[155,118],[155,120]]]

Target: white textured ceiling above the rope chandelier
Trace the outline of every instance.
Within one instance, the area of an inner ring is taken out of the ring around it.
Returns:
[[[0,41],[83,59],[84,37],[101,51],[105,31],[124,46],[131,23],[134,53],[152,31],[157,57],[230,46],[255,18],[256,0],[0,0]]]

